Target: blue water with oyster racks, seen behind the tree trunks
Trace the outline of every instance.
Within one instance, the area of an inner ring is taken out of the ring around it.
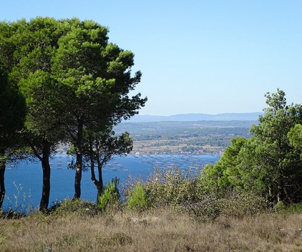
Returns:
[[[129,175],[142,176],[153,171],[154,166],[171,167],[177,165],[186,169],[190,166],[202,166],[214,163],[219,159],[212,155],[128,155],[114,157],[104,166],[103,180],[111,180],[117,176],[120,184]],[[74,173],[67,168],[72,160],[71,156],[57,154],[51,160],[51,185],[49,206],[60,200],[72,198],[74,194]],[[96,171],[97,175],[97,171]],[[42,168],[40,162],[22,161],[16,165],[8,164],[5,172],[6,198],[3,209],[30,211],[39,206],[42,194]],[[91,171],[82,174],[81,198],[89,201],[96,200],[96,187],[91,181]]]

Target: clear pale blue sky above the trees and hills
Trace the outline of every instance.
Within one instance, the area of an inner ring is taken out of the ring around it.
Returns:
[[[255,112],[302,103],[302,1],[0,1],[0,20],[92,19],[135,54],[140,114]]]

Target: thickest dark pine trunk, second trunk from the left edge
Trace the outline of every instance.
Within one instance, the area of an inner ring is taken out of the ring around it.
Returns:
[[[50,144],[48,141],[43,141],[43,156],[42,156],[42,170],[43,170],[43,186],[42,186],[42,197],[40,201],[40,211],[45,211],[49,204],[50,194]]]

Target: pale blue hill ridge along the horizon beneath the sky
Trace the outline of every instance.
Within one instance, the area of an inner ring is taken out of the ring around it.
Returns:
[[[175,114],[175,115],[135,115],[124,122],[154,122],[154,121],[255,121],[262,112],[253,113],[223,113],[223,114]]]

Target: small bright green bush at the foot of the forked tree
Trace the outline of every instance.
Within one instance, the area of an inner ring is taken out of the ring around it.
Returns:
[[[119,202],[119,191],[117,188],[118,179],[112,179],[104,186],[104,192],[98,199],[98,208],[106,212],[110,206]]]

